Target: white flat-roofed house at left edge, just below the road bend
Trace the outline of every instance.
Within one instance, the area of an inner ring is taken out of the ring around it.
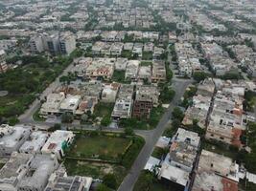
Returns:
[[[30,137],[32,129],[21,125],[0,126],[0,156],[9,156],[18,151],[21,145]]]

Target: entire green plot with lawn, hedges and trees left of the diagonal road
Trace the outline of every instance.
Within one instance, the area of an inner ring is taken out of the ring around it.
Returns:
[[[138,136],[101,131],[81,131],[67,150],[64,165],[68,175],[103,179],[115,189],[123,181],[145,141]]]

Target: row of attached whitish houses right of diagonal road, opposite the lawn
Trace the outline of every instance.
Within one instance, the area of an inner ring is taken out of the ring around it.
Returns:
[[[162,162],[158,179],[172,181],[187,190],[192,183],[190,174],[195,168],[199,143],[197,133],[179,128],[172,139],[170,152]]]

